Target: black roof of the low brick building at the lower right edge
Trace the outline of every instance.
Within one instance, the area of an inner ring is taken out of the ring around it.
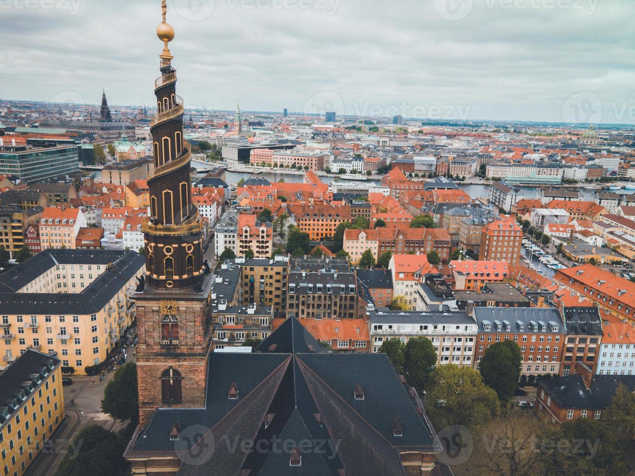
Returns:
[[[541,380],[538,391],[544,388],[559,407],[566,409],[605,409],[611,404],[620,383],[629,392],[635,390],[635,375],[594,375],[587,389],[582,374]]]

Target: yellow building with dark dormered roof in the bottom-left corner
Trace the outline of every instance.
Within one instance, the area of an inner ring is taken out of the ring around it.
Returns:
[[[64,420],[62,360],[24,352],[0,374],[0,402],[2,474],[20,476]]]

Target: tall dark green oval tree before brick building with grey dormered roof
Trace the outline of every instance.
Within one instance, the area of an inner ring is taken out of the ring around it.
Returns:
[[[485,385],[494,389],[502,404],[514,397],[523,355],[512,340],[497,342],[485,350],[479,368]]]

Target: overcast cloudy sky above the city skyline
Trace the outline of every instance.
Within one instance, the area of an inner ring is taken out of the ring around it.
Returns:
[[[154,103],[159,0],[0,0],[3,99]],[[635,123],[633,0],[168,0],[186,107]]]

